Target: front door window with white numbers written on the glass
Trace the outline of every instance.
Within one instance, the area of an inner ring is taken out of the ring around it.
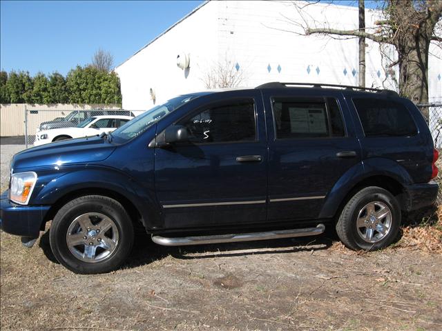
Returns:
[[[224,143],[256,140],[253,101],[213,106],[179,123],[187,128],[191,143]]]

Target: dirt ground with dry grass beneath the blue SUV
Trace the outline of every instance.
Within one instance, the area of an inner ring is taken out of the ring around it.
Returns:
[[[146,237],[124,268],[92,276],[57,263],[48,229],[30,249],[0,233],[1,330],[442,330],[442,254],[419,226],[378,252],[332,232],[184,248]]]

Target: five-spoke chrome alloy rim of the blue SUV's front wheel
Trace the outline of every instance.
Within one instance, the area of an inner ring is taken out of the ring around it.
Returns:
[[[87,212],[70,223],[66,243],[70,252],[80,261],[104,261],[111,257],[117,248],[117,225],[104,214]]]

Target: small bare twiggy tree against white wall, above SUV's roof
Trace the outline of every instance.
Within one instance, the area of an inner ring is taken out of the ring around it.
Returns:
[[[244,82],[244,71],[228,59],[215,63],[204,74],[202,81],[205,88],[236,88]]]

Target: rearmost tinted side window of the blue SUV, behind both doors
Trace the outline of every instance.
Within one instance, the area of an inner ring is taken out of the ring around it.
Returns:
[[[410,112],[389,100],[353,99],[366,137],[401,137],[417,133]]]

